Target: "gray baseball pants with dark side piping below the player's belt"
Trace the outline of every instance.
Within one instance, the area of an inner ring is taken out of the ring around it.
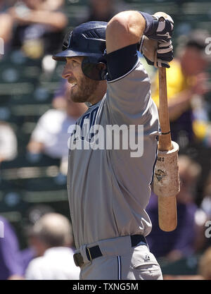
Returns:
[[[87,247],[80,247],[83,257],[80,280],[162,280],[162,272],[146,243],[132,247],[129,235],[98,241],[101,257],[91,261]]]

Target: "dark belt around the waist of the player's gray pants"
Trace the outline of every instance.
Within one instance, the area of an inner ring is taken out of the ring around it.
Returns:
[[[138,245],[141,242],[143,242],[145,245],[147,245],[146,239],[143,237],[143,235],[131,235],[130,239],[131,239],[132,247],[135,247],[136,245]],[[100,247],[98,245],[93,246],[93,247],[87,247],[86,254],[87,254],[87,259],[89,260],[89,262],[91,262],[92,259],[103,256],[103,254],[100,250]],[[74,258],[74,261],[75,261],[75,264],[77,265],[77,267],[81,267],[82,264],[84,263],[84,260],[83,260],[81,253],[75,253],[75,255],[73,255],[73,258]]]

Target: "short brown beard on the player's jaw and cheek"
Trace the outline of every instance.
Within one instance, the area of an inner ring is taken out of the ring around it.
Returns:
[[[96,92],[99,82],[98,80],[91,80],[84,75],[77,80],[77,85],[71,88],[70,99],[73,102],[79,103],[89,102],[94,92]]]

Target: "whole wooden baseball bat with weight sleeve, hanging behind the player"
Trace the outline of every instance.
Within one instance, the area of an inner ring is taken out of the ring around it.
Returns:
[[[172,142],[167,104],[166,68],[159,68],[159,119],[161,135],[158,142],[158,160],[155,166],[154,192],[158,195],[158,220],[162,231],[177,227],[177,200],[179,192],[178,151]]]

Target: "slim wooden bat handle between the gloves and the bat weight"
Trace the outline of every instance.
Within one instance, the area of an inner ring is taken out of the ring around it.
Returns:
[[[166,68],[158,68],[159,71],[159,109],[162,109],[162,116],[159,116],[162,134],[159,136],[158,149],[168,151],[172,149],[172,139],[170,133],[170,119],[167,102],[167,82]]]

